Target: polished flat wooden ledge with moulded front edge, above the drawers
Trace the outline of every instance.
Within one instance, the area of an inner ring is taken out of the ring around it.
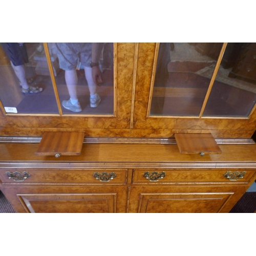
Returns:
[[[219,145],[221,154],[180,154],[176,144],[83,144],[79,156],[36,156],[38,143],[0,143],[0,166],[61,166],[68,163],[69,168],[77,166],[104,166],[122,168],[123,166],[237,166],[237,168],[256,167],[256,144]],[[25,154],[26,153],[26,154]],[[100,166],[100,167],[99,167]],[[125,167],[126,168],[126,167]]]

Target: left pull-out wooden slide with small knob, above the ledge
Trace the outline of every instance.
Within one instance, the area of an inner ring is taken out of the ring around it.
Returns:
[[[83,138],[83,132],[46,132],[42,136],[35,155],[79,156],[82,150]]]

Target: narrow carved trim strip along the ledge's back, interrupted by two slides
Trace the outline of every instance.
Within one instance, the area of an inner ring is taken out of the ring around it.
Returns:
[[[39,143],[42,137],[0,137],[0,143]],[[253,139],[215,139],[217,144],[255,144]],[[111,138],[84,137],[89,144],[177,144],[175,138]]]

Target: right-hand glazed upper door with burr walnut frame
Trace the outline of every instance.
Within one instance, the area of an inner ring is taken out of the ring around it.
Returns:
[[[144,136],[255,131],[255,43],[139,43],[133,128]]]

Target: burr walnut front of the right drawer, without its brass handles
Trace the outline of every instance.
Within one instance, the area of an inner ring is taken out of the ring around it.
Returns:
[[[231,181],[223,175],[230,171],[233,172],[246,172],[243,178],[240,178],[236,181]],[[164,172],[165,177],[160,178],[158,181],[150,181],[143,177],[143,175],[149,172],[157,172],[159,175]],[[244,170],[244,169],[135,169],[133,174],[133,183],[134,184],[248,184],[251,182],[252,177],[254,177],[255,170]]]

